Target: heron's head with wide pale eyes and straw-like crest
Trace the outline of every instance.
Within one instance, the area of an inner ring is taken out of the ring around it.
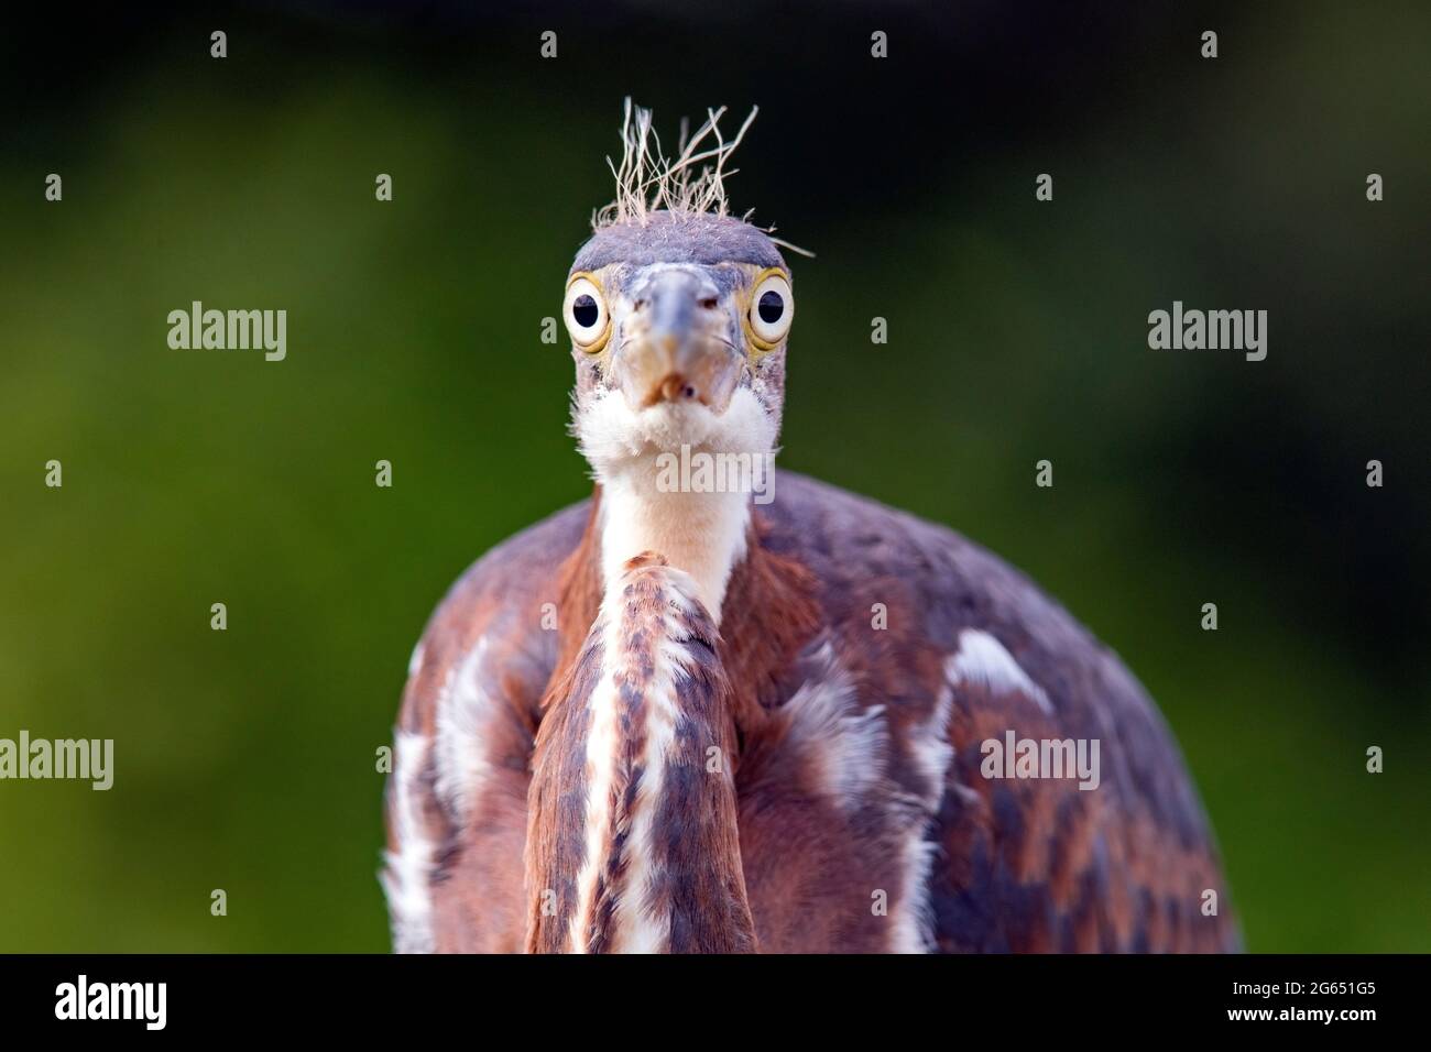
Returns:
[[[768,233],[726,213],[721,165],[740,136],[721,142],[718,117],[665,160],[648,145],[650,113],[628,109],[617,200],[567,276],[572,425],[598,477],[683,445],[774,448],[790,269]],[[703,149],[711,135],[718,145]],[[697,175],[703,159],[714,165]]]

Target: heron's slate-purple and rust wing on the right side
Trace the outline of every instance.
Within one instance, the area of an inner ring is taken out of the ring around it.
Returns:
[[[909,852],[927,859],[927,902],[910,906],[927,946],[1238,946],[1196,790],[1112,651],[943,527],[788,472],[776,494],[770,542],[820,580],[836,656],[861,704],[884,708],[892,777],[929,812],[933,850]],[[1017,766],[995,777],[986,743],[1010,751],[1010,731],[1015,759],[1022,741],[1050,743],[1049,759],[1076,766],[1096,743],[1096,787]]]

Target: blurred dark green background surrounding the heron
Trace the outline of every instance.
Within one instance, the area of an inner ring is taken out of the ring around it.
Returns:
[[[781,462],[989,545],[1123,656],[1249,949],[1431,949],[1428,39],[1410,3],[13,21],[0,737],[113,737],[116,773],[0,783],[0,950],[388,948],[408,653],[590,485],[539,332],[625,94],[673,136],[761,106],[733,205],[819,253]],[[195,299],[286,308],[288,359],[170,351]],[[1149,351],[1173,299],[1266,309],[1268,359]]]

